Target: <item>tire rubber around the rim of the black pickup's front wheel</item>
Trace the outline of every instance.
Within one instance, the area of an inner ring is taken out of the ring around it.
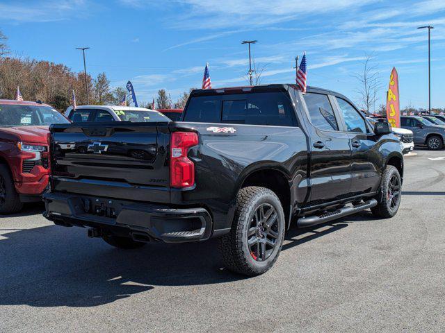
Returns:
[[[398,182],[398,198],[397,203],[394,207],[391,205],[391,200],[393,196],[389,195],[389,188],[391,186],[391,179],[396,178]],[[380,183],[380,195],[378,198],[378,205],[371,208],[371,212],[374,216],[382,218],[382,219],[389,219],[390,217],[393,217],[397,214],[398,207],[400,207],[401,204],[401,196],[402,196],[402,179],[400,173],[398,173],[398,170],[396,167],[393,167],[392,165],[387,165],[385,172],[382,176],[382,182]]]

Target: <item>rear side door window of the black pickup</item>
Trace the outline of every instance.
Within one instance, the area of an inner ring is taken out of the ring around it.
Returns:
[[[339,130],[332,105],[325,94],[305,94],[305,102],[312,125],[321,130]]]

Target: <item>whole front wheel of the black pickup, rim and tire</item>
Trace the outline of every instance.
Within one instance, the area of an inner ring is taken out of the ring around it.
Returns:
[[[402,178],[396,167],[387,165],[380,185],[381,197],[377,206],[371,208],[374,216],[388,219],[397,214],[401,205]]]

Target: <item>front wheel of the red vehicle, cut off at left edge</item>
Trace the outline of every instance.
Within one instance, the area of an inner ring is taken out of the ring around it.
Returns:
[[[19,194],[15,191],[13,177],[6,164],[0,164],[0,214],[12,214],[22,210]]]

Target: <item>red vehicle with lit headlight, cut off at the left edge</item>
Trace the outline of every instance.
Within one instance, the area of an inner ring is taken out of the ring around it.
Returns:
[[[69,122],[49,105],[0,99],[0,214],[41,200],[48,185],[49,125]]]

